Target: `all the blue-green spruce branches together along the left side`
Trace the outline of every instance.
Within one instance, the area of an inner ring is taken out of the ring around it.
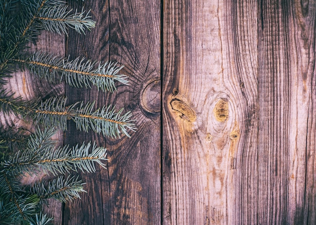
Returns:
[[[29,53],[28,42],[36,41],[44,29],[67,35],[68,29],[85,33],[95,27],[90,10],[73,12],[62,0],[0,0],[0,110],[4,116],[15,114],[41,126],[31,135],[22,129],[0,127],[1,224],[47,224],[51,218],[41,213],[46,199],[66,202],[84,192],[84,183],[78,177],[59,176],[26,187],[20,183],[20,176],[41,171],[56,176],[71,171],[95,172],[96,164],[106,167],[106,148],[95,143],[55,146],[52,136],[58,128],[67,129],[68,120],[73,120],[79,130],[92,129],[115,138],[122,133],[130,136],[128,132],[136,130],[131,112],[123,113],[124,109],[116,111],[111,105],[95,109],[94,102],[67,105],[67,98],[58,97],[26,101],[4,88],[6,78],[24,68],[51,83],[66,82],[77,88],[96,86],[103,92],[114,92],[116,82],[128,85],[127,76],[120,74],[123,66],[113,62]]]

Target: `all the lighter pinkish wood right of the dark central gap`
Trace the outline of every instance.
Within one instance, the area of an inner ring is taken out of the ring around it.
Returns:
[[[164,224],[314,224],[314,1],[165,1]]]

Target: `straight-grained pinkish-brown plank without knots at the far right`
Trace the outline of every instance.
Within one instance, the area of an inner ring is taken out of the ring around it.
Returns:
[[[259,8],[258,223],[315,223],[315,7]]]

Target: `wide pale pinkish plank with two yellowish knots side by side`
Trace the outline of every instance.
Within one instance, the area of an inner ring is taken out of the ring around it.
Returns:
[[[256,4],[165,2],[164,224],[255,221]]]

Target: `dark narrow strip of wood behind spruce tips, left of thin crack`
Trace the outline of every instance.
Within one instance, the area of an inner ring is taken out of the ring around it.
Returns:
[[[86,57],[92,60],[109,60],[109,2],[108,1],[70,1],[71,8],[81,10],[91,9],[90,15],[96,21],[96,27],[87,31],[86,35],[74,31],[67,39],[67,55],[72,58]],[[93,89],[77,89],[66,86],[66,96],[69,104],[77,101],[93,102],[96,107],[107,105],[106,94]],[[69,122],[65,132],[65,144],[75,145],[83,141],[95,141],[99,146],[106,146],[102,135],[76,130],[76,125]],[[65,204],[63,224],[111,224],[111,213],[107,208],[110,199],[108,171],[96,166],[95,173],[80,173],[80,178],[86,182],[84,189],[87,193],[81,194],[81,199]],[[104,199],[107,201],[104,202]]]

